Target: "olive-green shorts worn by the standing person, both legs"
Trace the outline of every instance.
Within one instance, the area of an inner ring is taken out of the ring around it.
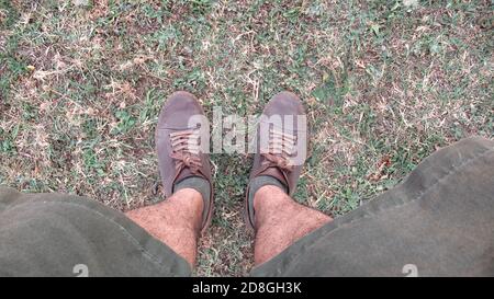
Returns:
[[[166,244],[96,200],[0,188],[0,276],[190,276]],[[469,138],[302,238],[252,276],[493,276],[494,142]]]

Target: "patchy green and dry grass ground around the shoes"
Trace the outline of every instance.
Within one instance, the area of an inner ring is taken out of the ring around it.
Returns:
[[[0,0],[0,184],[121,210],[160,197],[153,133],[175,90],[249,115],[308,111],[296,199],[337,217],[437,148],[494,137],[491,1]],[[197,275],[245,275],[250,157],[216,154]]]

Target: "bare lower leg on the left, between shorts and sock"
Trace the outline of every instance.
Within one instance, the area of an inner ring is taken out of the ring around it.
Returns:
[[[165,202],[131,210],[125,215],[193,267],[203,205],[199,192],[183,188]]]

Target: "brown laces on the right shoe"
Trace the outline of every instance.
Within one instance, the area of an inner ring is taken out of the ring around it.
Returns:
[[[293,171],[290,157],[294,152],[295,142],[295,136],[270,128],[268,148],[261,150],[261,156],[266,158],[262,164],[274,164],[282,170]]]

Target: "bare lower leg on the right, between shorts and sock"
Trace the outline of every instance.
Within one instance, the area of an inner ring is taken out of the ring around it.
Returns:
[[[293,242],[333,219],[294,202],[277,186],[266,185],[254,197],[255,264],[267,262]]]

